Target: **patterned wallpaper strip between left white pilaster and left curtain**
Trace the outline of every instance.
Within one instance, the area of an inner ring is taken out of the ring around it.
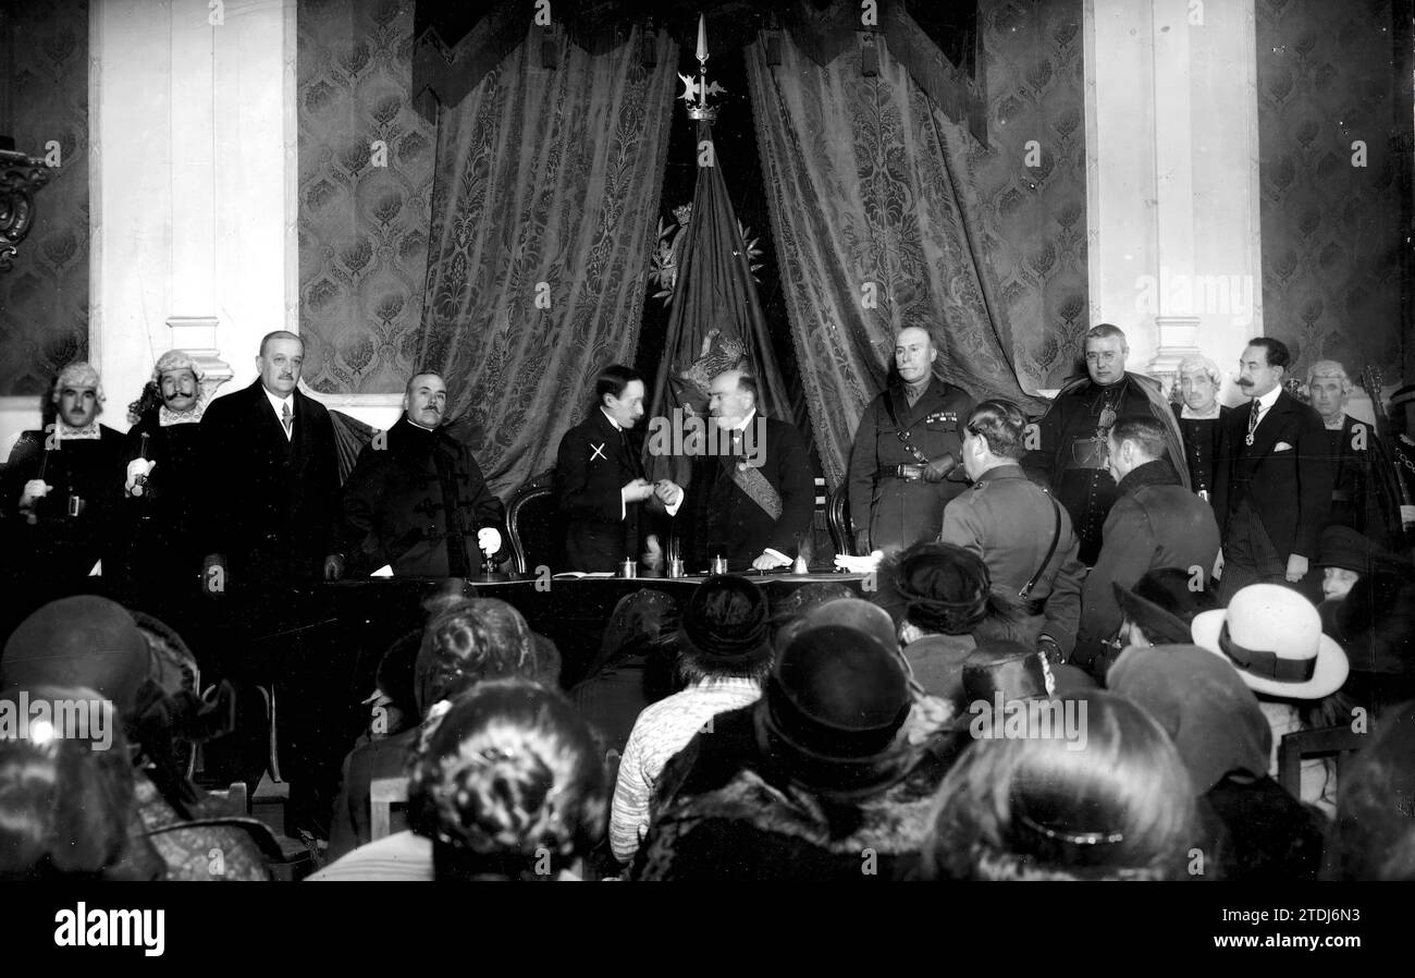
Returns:
[[[417,355],[436,150],[409,99],[413,0],[300,0],[296,24],[304,378],[321,392],[402,391]]]

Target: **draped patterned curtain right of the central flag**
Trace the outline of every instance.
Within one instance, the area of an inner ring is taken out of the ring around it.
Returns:
[[[904,327],[932,334],[944,379],[1036,413],[993,296],[966,130],[944,119],[887,45],[879,76],[863,78],[856,54],[816,65],[782,31],[781,64],[767,64],[758,38],[747,78],[826,481],[843,481],[855,427],[883,389]]]

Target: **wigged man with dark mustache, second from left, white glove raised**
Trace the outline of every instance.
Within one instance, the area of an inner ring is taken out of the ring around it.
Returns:
[[[123,560],[116,570],[143,596],[195,592],[201,576],[197,498],[201,493],[202,371],[181,350],[157,358],[153,379],[129,406],[122,505]],[[146,440],[144,440],[146,437]]]

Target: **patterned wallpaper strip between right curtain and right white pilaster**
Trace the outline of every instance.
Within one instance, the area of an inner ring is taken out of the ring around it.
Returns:
[[[981,0],[979,31],[989,149],[974,144],[969,166],[998,235],[985,245],[1022,386],[1056,388],[1090,326],[1081,0]]]

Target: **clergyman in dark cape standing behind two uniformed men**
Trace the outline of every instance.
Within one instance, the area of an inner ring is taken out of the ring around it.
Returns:
[[[1050,485],[1065,507],[1081,541],[1081,562],[1095,563],[1101,531],[1115,502],[1115,480],[1107,470],[1105,439],[1122,415],[1153,415],[1169,442],[1169,461],[1189,488],[1184,446],[1160,393],[1159,381],[1125,369],[1129,345],[1125,334],[1102,323],[1085,334],[1087,376],[1057,392],[1037,425],[1037,446],[1023,466],[1027,476]]]

